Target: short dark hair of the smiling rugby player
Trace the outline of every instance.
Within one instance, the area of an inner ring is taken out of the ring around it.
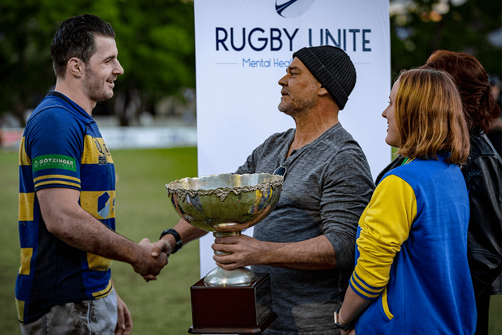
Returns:
[[[56,77],[64,77],[68,61],[76,57],[87,63],[96,52],[94,36],[115,37],[109,23],[101,18],[84,14],[60,23],[51,43],[52,66]]]

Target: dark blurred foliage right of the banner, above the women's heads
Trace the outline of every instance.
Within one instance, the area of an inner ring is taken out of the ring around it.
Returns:
[[[448,4],[447,12],[441,11]],[[391,16],[392,79],[402,69],[421,66],[437,49],[468,52],[488,73],[500,76],[500,47],[488,42],[488,33],[500,29],[501,3],[469,0],[453,6],[440,0],[413,0],[404,13]],[[439,6],[441,5],[441,6]],[[398,37],[398,34],[401,36]]]

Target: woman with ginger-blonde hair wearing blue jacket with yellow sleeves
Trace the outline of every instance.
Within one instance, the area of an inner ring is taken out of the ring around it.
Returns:
[[[467,263],[469,153],[451,76],[403,71],[382,116],[403,164],[384,175],[359,220],[356,266],[335,312],[342,334],[473,334]]]

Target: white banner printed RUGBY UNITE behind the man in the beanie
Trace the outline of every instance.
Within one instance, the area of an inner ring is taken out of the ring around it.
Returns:
[[[388,0],[195,0],[198,174],[234,172],[270,135],[294,128],[277,106],[293,53],[334,45],[357,81],[339,113],[373,178],[390,162],[382,111],[391,89]],[[245,232],[252,235],[252,229]],[[214,238],[200,240],[201,276]]]

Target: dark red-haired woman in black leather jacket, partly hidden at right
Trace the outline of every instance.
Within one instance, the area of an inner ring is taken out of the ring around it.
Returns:
[[[448,72],[462,99],[470,135],[469,157],[461,168],[470,203],[467,261],[476,297],[476,335],[486,335],[490,295],[502,293],[502,160],[486,135],[498,120],[500,107],[492,95],[486,70],[468,53],[436,50],[420,68]],[[379,174],[375,184],[404,159],[398,156]]]

